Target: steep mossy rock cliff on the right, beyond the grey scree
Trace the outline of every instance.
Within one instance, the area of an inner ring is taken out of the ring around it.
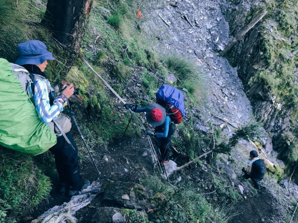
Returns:
[[[255,117],[274,136],[280,157],[289,166],[296,166],[298,6],[294,0],[230,0],[222,4],[222,9],[231,36],[262,10],[268,10],[226,56],[237,67]]]

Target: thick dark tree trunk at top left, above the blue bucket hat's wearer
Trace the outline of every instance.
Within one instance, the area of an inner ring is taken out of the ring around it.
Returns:
[[[92,3],[93,0],[48,0],[41,23],[60,43],[77,52]]]

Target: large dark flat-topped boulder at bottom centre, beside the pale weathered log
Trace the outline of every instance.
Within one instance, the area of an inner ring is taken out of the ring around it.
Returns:
[[[105,188],[103,201],[117,207],[147,210],[154,208],[153,191],[138,183],[111,181]]]

